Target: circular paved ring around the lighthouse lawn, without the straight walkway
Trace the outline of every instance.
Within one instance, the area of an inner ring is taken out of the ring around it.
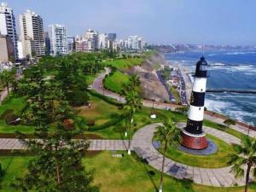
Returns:
[[[146,125],[138,130],[132,138],[131,146],[136,153],[144,160],[148,161],[150,166],[161,171],[163,155],[160,154],[152,144],[154,131],[160,124]],[[179,124],[183,127],[183,124]],[[205,127],[205,131],[215,137],[223,139],[226,143],[240,143],[240,140],[231,136],[224,131],[218,131],[210,127]],[[201,168],[195,166],[187,166],[177,163],[174,160],[166,158],[164,172],[172,177],[179,179],[191,178],[195,183],[210,185],[215,187],[230,187],[235,183],[244,185],[245,179],[236,179],[234,174],[230,172],[230,167],[223,168]]]

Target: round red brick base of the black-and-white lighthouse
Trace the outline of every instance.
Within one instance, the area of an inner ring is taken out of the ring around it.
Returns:
[[[206,134],[194,135],[183,130],[182,133],[182,145],[185,148],[191,148],[195,150],[201,150],[208,147]]]

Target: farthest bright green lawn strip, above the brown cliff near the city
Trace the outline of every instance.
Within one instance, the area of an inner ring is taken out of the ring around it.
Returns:
[[[143,62],[142,58],[129,58],[129,59],[118,59],[113,61],[104,61],[105,65],[117,67],[118,69],[129,69],[130,67],[140,65]]]

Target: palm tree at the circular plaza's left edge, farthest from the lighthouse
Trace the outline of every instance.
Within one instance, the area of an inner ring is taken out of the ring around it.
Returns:
[[[125,96],[125,105],[124,105],[124,112],[125,117],[127,118],[127,126],[126,129],[128,130],[128,154],[131,154],[131,124],[133,123],[134,114],[143,107],[143,102],[140,96],[138,95],[137,91],[131,90]]]

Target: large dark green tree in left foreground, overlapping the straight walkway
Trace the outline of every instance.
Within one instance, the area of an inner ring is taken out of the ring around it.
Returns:
[[[42,111],[35,111],[38,117]],[[49,110],[50,116],[53,111]],[[64,119],[74,119],[73,129],[68,129]],[[25,176],[13,183],[15,189],[21,191],[40,192],[98,192],[91,185],[92,172],[85,172],[82,166],[84,153],[89,147],[86,138],[74,139],[83,131],[76,122],[76,113],[61,100],[55,109],[55,129],[49,134],[49,127],[43,118],[37,120],[38,139],[25,140],[29,153],[34,158],[27,166]]]

